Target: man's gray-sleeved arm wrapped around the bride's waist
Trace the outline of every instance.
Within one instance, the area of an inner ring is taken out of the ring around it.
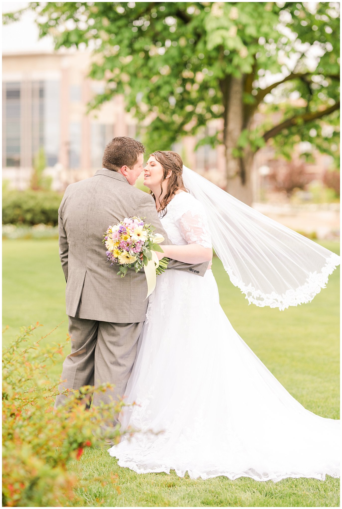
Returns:
[[[169,241],[167,233],[165,232],[163,225],[158,217],[158,213],[155,208],[155,202],[147,193],[144,193],[142,196],[142,200],[140,204],[137,206],[135,210],[135,215],[139,217],[146,217],[145,222],[151,223],[152,226],[155,227],[156,233],[160,233],[164,237],[164,241],[161,242],[161,246],[163,244],[170,245],[172,242]],[[204,276],[209,262],[203,262],[198,264],[190,264],[184,262],[178,262],[177,260],[170,260],[168,268],[177,269],[177,270],[186,270],[190,271],[192,274],[197,274],[199,276]]]

